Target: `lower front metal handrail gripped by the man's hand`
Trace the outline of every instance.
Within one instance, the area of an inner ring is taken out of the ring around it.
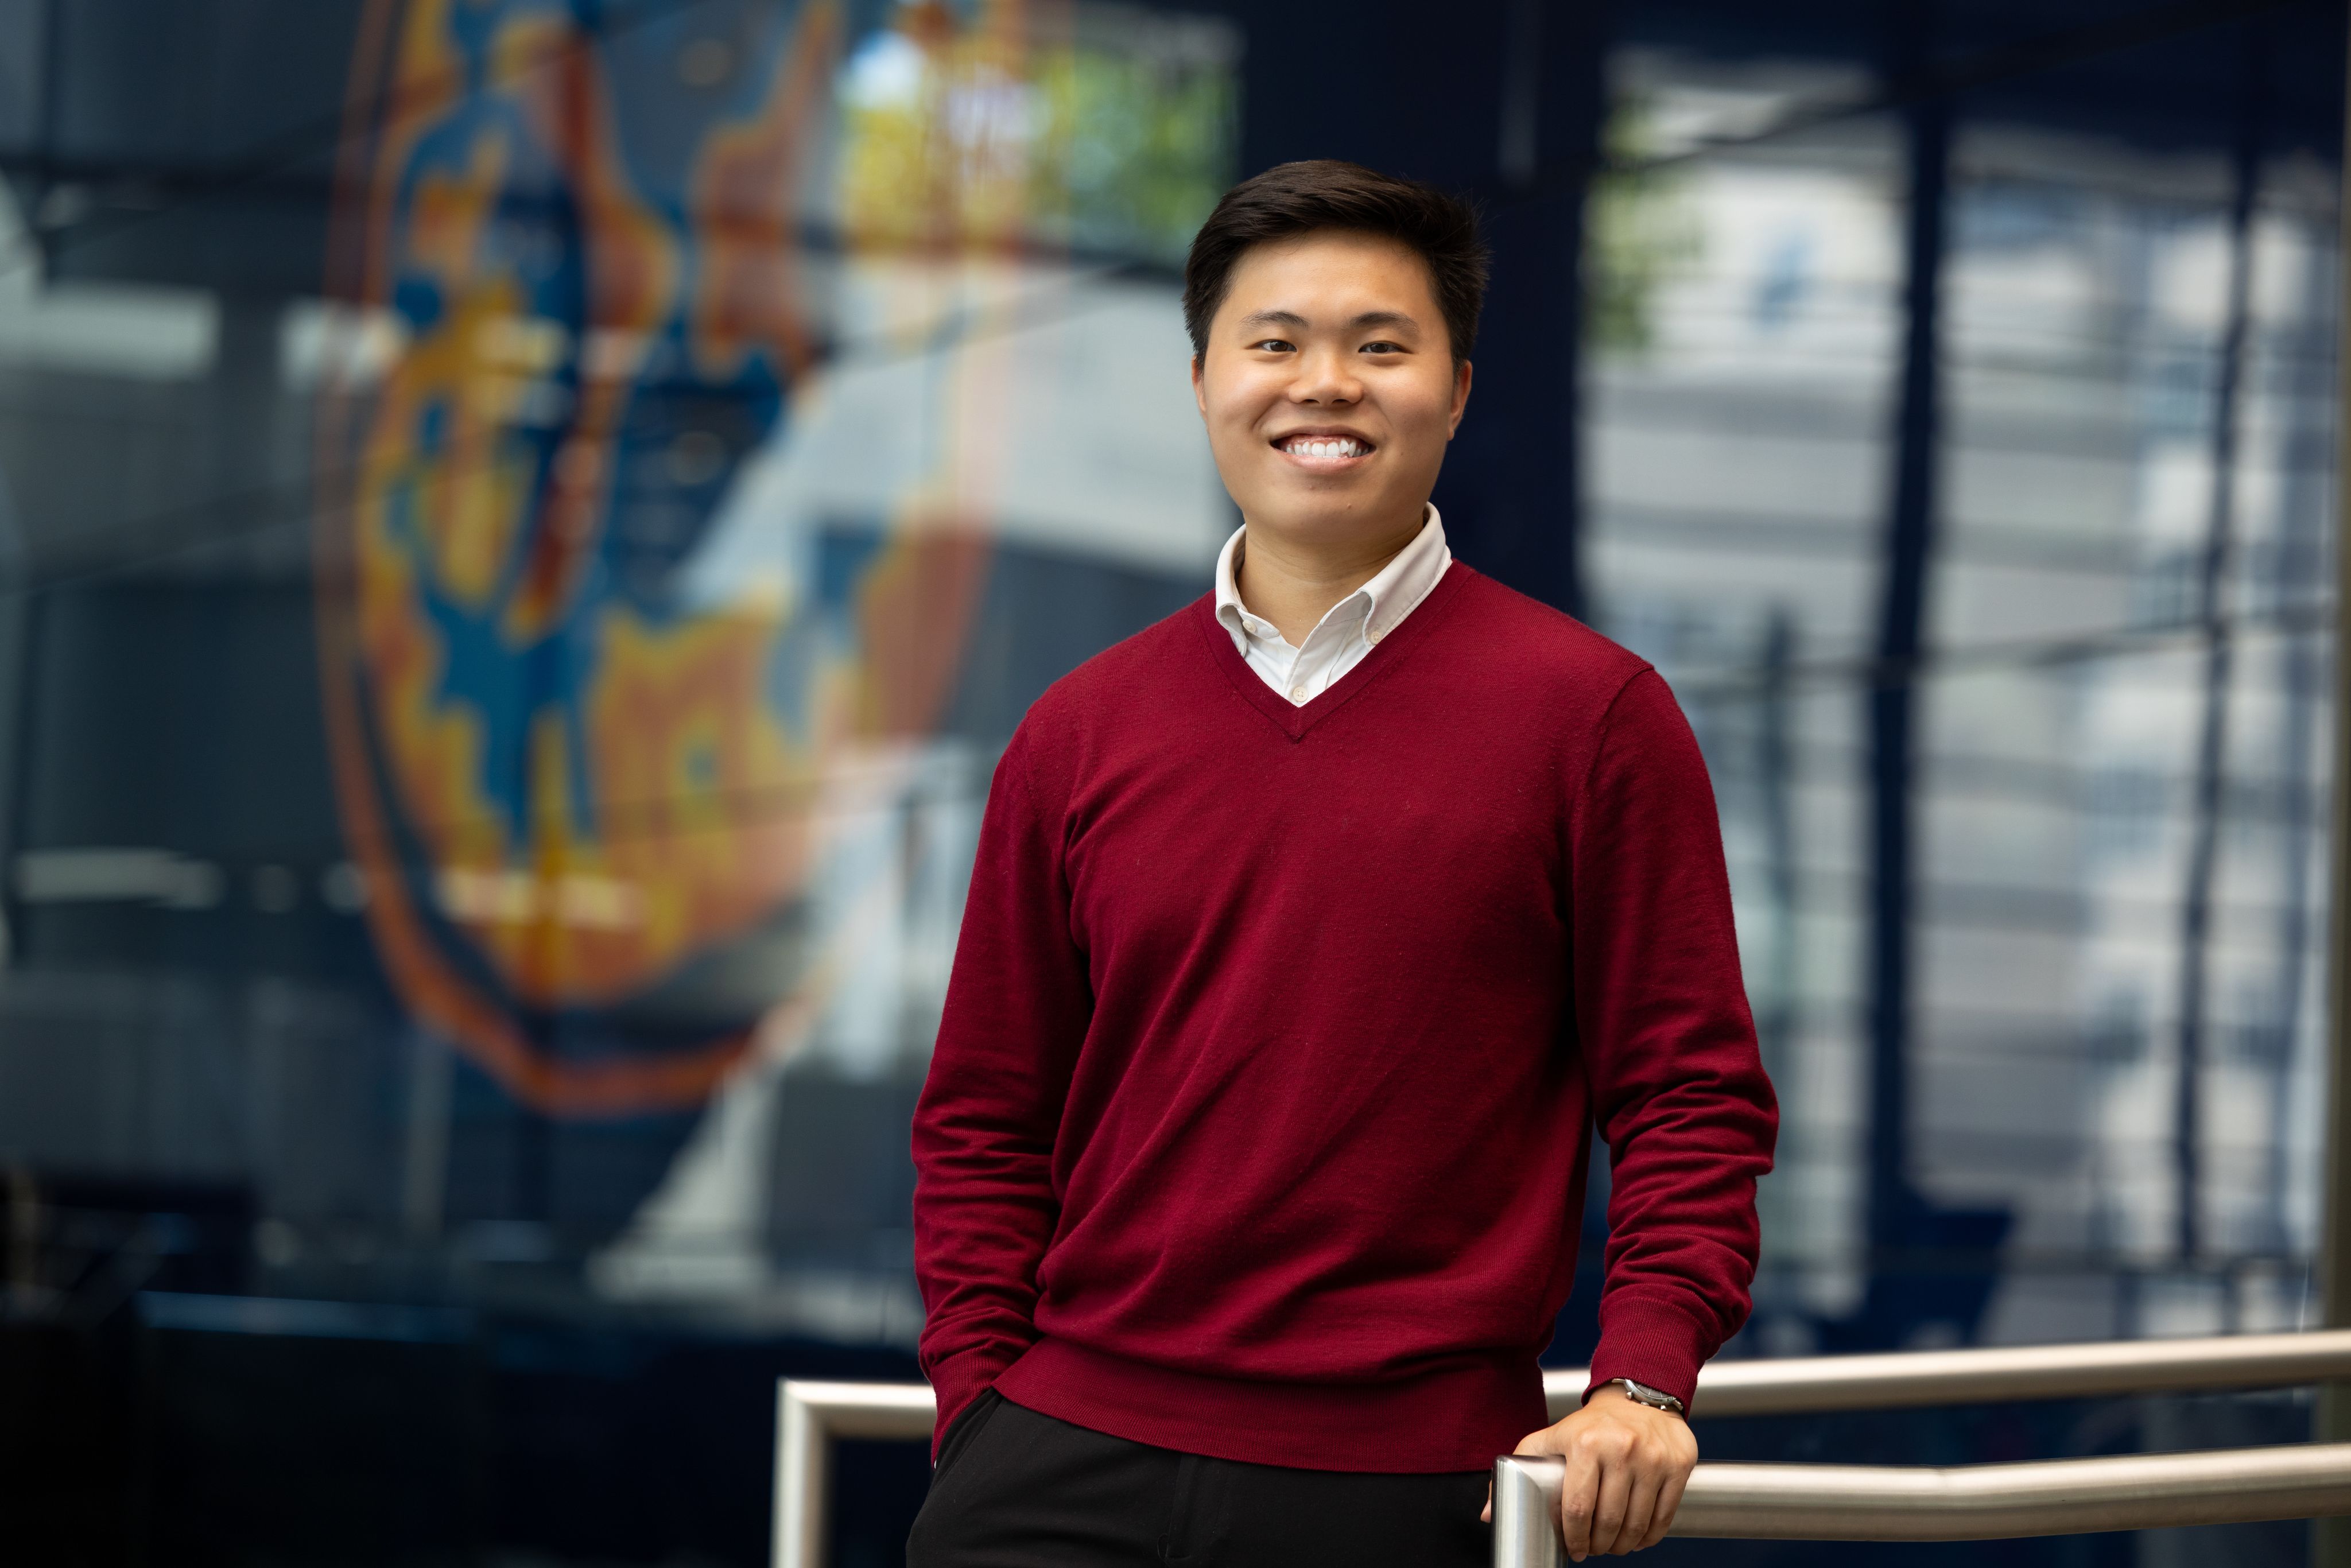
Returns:
[[[1495,1568],[1556,1568],[1549,1455],[1493,1465]],[[2351,1443],[2135,1453],[2031,1465],[1700,1465],[1669,1535],[2008,1540],[2351,1514]]]

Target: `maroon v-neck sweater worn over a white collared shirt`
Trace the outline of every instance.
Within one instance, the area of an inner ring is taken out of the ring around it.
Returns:
[[[922,1366],[1260,1465],[1483,1469],[1545,1425],[1592,1126],[1594,1382],[1690,1399],[1777,1112],[1665,682],[1455,562],[1305,708],[1208,597],[997,764],[915,1112]]]

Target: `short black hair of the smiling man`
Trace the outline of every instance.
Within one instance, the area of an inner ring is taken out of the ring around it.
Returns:
[[[1183,324],[1192,334],[1192,357],[1208,350],[1208,322],[1251,244],[1324,228],[1380,235],[1415,252],[1429,266],[1453,360],[1469,357],[1476,313],[1486,303],[1486,242],[1476,230],[1476,207],[1418,179],[1338,158],[1284,162],[1244,179],[1192,235],[1192,254],[1183,263]]]

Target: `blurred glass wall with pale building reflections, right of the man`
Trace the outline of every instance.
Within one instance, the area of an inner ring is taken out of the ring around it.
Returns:
[[[2316,1321],[2337,207],[2222,33],[2196,148],[1617,61],[1587,562],[1721,792],[1756,1349]]]

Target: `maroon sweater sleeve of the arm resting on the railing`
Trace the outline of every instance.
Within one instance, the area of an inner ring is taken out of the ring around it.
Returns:
[[[1613,1161],[1592,1387],[1634,1378],[1690,1403],[1697,1368],[1747,1321],[1780,1112],[1707,764],[1655,670],[1608,710],[1570,865],[1575,1023]]]

